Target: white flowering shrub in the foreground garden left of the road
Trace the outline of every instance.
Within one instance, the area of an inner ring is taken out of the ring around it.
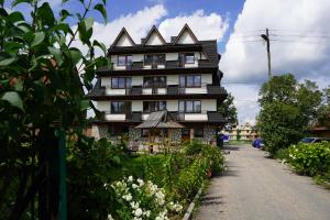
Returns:
[[[166,200],[164,189],[150,180],[134,179],[130,176],[110,187],[116,193],[119,206],[108,216],[109,220],[166,220],[183,211],[180,204]]]

